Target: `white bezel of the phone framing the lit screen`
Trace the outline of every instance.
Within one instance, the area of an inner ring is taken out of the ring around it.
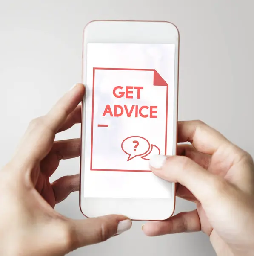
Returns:
[[[175,44],[175,82],[174,82],[174,143],[173,154],[177,149],[178,113],[178,73],[179,73],[179,32],[177,27],[167,21],[134,20],[93,20],[83,31],[82,81],[86,84],[86,45],[88,43],[171,43]],[[86,105],[86,95],[82,108]],[[86,111],[82,111],[85,120]],[[133,220],[165,220],[174,213],[175,184],[172,183],[169,199],[139,198],[85,198],[84,157],[85,123],[81,124],[80,157],[80,210],[88,218],[107,214],[123,214]]]

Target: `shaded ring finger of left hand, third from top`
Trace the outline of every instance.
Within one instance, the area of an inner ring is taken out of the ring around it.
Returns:
[[[62,159],[80,156],[80,139],[55,141],[49,154],[41,161],[40,169],[46,177],[51,177]]]

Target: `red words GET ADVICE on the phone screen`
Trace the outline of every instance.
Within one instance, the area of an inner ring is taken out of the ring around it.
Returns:
[[[114,87],[113,95],[116,98],[125,99],[140,99],[140,92],[144,87],[140,86],[126,86],[123,89],[122,86]],[[119,117],[127,115],[127,117],[143,117],[143,118],[157,118],[157,106],[138,106],[138,105],[114,105],[112,108],[108,104],[103,112],[102,116],[110,115],[112,117]]]

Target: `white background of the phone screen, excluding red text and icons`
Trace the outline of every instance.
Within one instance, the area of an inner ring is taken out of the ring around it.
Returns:
[[[171,197],[171,184],[155,177],[151,172],[91,171],[91,107],[94,67],[157,70],[169,84],[167,147],[171,148],[172,115],[170,109],[172,109],[174,99],[174,44],[88,44],[84,180],[85,197]],[[113,88],[117,85],[143,86],[144,90],[140,91],[140,99],[117,99],[112,95]],[[158,106],[158,118],[103,117],[107,104],[156,105]],[[95,70],[93,169],[149,170],[148,161],[140,157],[127,162],[128,155],[121,150],[121,143],[129,136],[142,136],[164,152],[165,112],[166,87],[153,86],[153,72]],[[108,124],[109,127],[97,127],[97,124]],[[167,154],[170,153],[170,150],[167,151]]]

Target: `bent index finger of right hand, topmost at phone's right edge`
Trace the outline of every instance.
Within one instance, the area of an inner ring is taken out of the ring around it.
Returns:
[[[221,145],[231,144],[222,134],[201,121],[180,121],[178,142],[187,141],[205,154],[213,154]]]

